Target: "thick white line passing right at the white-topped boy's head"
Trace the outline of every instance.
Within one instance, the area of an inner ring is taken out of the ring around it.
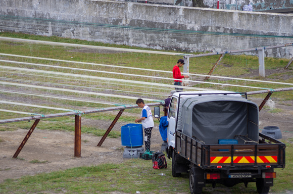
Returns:
[[[32,88],[48,89],[48,90],[57,90],[57,91],[67,91],[67,92],[74,92],[74,93],[85,93],[85,94],[93,94],[93,95],[111,96],[111,97],[114,97],[114,98],[137,100],[137,97],[124,96],[124,95],[115,95],[115,94],[106,94],[106,93],[98,93],[98,92],[90,92],[90,91],[80,91],[80,90],[65,89],[65,88],[45,87],[45,86],[29,85],[29,84],[21,84],[21,83],[8,83],[8,82],[3,82],[3,81],[0,81],[0,84],[15,85],[15,86],[21,86],[21,87],[32,87]],[[160,100],[145,99],[145,98],[144,98],[144,100],[145,101],[163,102],[163,101],[160,101]]]

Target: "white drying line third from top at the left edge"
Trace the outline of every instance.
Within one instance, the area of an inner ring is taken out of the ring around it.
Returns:
[[[36,65],[36,66],[44,66],[44,67],[54,67],[54,68],[63,68],[63,69],[71,69],[71,70],[82,70],[82,71],[90,71],[90,72],[100,72],[100,73],[110,73],[110,74],[119,74],[119,75],[128,75],[128,76],[137,76],[137,77],[149,77],[149,78],[155,78],[155,79],[168,79],[168,80],[181,80],[181,79],[174,79],[174,78],[163,78],[163,77],[156,77],[156,76],[146,76],[146,75],[134,75],[134,74],[126,74],[126,73],[115,73],[115,72],[108,72],[108,71],[98,71],[98,70],[89,70],[89,69],[80,69],[80,68],[71,68],[71,67],[60,67],[60,66],[51,66],[51,65],[42,65],[42,64],[35,64],[35,63],[25,63],[25,62],[15,62],[15,61],[7,61],[7,60],[0,60],[0,62],[9,62],[9,63],[18,63],[18,64],[26,64],[26,65]],[[0,67],[7,67],[7,66],[0,66]],[[9,68],[9,69],[26,69],[26,68]],[[27,71],[27,70],[23,70]],[[31,71],[31,69],[30,69]],[[38,70],[42,71],[42,70]],[[76,74],[74,74],[76,75]],[[103,78],[103,79],[109,79],[109,78]],[[113,78],[112,78],[113,79]],[[129,80],[128,80],[129,81]],[[133,81],[138,82],[138,81]],[[245,86],[245,85],[234,85],[234,84],[226,84],[226,83],[215,83],[215,82],[205,82],[205,81],[193,81],[189,80],[189,82],[195,82],[195,83],[208,83],[208,84],[214,84],[214,85],[226,85],[226,86],[236,86],[236,87],[247,87],[247,88],[257,88],[257,89],[268,89],[264,87],[253,87],[253,86]],[[149,83],[149,82],[144,82]],[[154,83],[153,83],[154,84]],[[174,87],[174,86],[172,86]],[[187,88],[187,86],[176,86],[178,88]],[[195,88],[191,87],[193,90]],[[202,88],[200,90],[203,90]]]

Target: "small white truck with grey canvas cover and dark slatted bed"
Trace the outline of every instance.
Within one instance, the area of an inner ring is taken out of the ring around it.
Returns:
[[[244,96],[244,97],[243,97]],[[189,189],[256,182],[268,193],[274,168],[285,167],[285,144],[259,132],[259,107],[245,92],[176,92],[168,110],[172,175],[189,173]]]

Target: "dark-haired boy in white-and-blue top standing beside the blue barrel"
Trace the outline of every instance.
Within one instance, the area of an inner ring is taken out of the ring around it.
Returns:
[[[140,118],[135,119],[135,123],[141,122],[142,127],[144,129],[145,152],[150,152],[152,129],[154,127],[153,114],[152,114],[151,108],[145,105],[142,99],[137,99],[136,105],[139,108],[142,108],[142,111],[141,111]]]

